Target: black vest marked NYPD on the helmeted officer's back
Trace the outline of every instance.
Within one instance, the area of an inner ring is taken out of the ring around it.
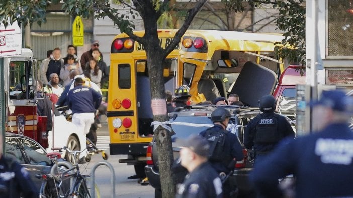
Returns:
[[[278,114],[264,116],[256,123],[255,143],[273,144],[281,140],[281,134],[278,131]]]

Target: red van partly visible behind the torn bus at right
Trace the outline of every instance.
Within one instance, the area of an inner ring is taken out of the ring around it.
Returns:
[[[300,70],[303,71],[302,74]],[[302,65],[290,65],[281,74],[273,93],[277,100],[276,111],[291,120],[295,120],[296,116],[297,84],[305,84],[305,67]]]

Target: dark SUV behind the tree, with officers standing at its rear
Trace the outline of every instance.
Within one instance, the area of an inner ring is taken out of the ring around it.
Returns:
[[[258,108],[231,108],[232,106],[224,107],[229,107],[228,110],[232,114],[228,128],[234,129],[232,132],[238,136],[239,141],[243,145],[245,126],[254,117],[262,112],[259,111]],[[171,123],[171,128],[175,133],[171,137],[175,159],[179,156],[179,151],[181,149],[181,147],[175,143],[176,140],[178,138],[185,139],[192,134],[199,134],[201,131],[213,126],[211,114],[215,109],[215,105],[206,107],[196,105],[184,107],[179,112],[169,113],[169,122]],[[288,121],[291,121],[288,117],[286,118]],[[253,191],[248,182],[248,175],[253,168],[253,163],[250,152],[248,152],[244,146],[243,153],[244,160],[237,162],[234,173],[229,177],[229,179],[236,185],[236,187],[238,187],[240,194],[248,195]],[[152,141],[149,143],[147,148],[147,165],[145,166],[145,173],[148,177],[149,184],[155,188],[155,197],[160,197],[161,194],[158,165],[157,148],[154,141]]]

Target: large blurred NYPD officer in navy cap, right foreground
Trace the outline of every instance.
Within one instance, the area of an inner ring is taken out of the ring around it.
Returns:
[[[278,179],[295,175],[296,197],[353,197],[353,133],[348,127],[353,99],[323,91],[311,103],[315,132],[280,143],[250,175],[256,190],[279,197]]]

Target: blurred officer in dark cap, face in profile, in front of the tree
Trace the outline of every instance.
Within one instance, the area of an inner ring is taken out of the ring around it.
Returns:
[[[208,163],[209,144],[199,135],[189,137],[180,150],[181,165],[189,174],[178,186],[177,198],[221,198],[222,181]]]

